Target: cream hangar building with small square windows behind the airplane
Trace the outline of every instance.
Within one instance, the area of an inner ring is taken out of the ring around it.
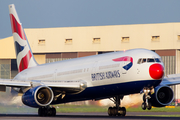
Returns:
[[[180,73],[180,23],[25,29],[39,64],[133,48],[158,53],[165,75]],[[0,77],[17,74],[13,37],[0,40]],[[174,86],[180,99],[179,86]]]

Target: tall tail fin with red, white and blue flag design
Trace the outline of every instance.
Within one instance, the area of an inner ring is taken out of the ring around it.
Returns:
[[[14,46],[16,49],[18,71],[21,72],[27,68],[37,66],[38,64],[34,59],[14,4],[9,5],[9,14],[14,38]]]

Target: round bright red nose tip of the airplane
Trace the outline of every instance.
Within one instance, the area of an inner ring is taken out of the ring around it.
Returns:
[[[153,79],[161,79],[164,75],[164,67],[161,64],[152,64],[149,67],[149,74]]]

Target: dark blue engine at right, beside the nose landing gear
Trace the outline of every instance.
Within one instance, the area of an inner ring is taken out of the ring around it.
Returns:
[[[174,99],[174,92],[169,86],[157,86],[151,95],[151,104],[154,107],[169,105]]]

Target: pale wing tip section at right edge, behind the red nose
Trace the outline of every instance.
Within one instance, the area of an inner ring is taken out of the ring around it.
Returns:
[[[164,77],[160,85],[177,85],[180,84],[180,74],[171,74]]]

